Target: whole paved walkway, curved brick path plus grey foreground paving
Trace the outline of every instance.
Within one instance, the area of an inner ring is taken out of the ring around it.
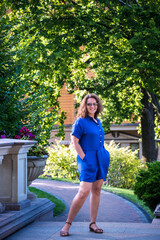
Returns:
[[[78,185],[59,181],[41,180],[33,182],[32,186],[49,192],[65,201],[65,213],[46,221],[35,221],[6,240],[62,240],[59,232],[66,220],[69,206],[78,191]],[[98,213],[98,225],[103,228],[103,234],[90,232],[89,198],[77,214],[70,236],[67,240],[160,240],[160,222],[147,223],[145,214],[131,202],[112,193],[102,191]]]

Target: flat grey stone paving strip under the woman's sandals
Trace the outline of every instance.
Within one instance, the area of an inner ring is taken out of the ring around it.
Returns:
[[[127,219],[126,219],[127,221]],[[160,225],[151,223],[98,222],[103,234],[89,231],[89,222],[73,222],[67,240],[160,240]],[[36,221],[6,240],[62,240],[59,232],[64,222]]]

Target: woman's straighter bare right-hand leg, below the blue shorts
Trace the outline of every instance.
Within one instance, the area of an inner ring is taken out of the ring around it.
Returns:
[[[91,196],[90,196],[91,223],[96,222],[102,184],[103,184],[103,179],[97,180],[96,182],[93,182],[93,184],[92,184]],[[95,224],[93,224],[92,228],[96,229],[97,226]]]

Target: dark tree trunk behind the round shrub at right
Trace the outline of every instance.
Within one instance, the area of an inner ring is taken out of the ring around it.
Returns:
[[[154,132],[154,111],[152,103],[149,101],[148,94],[145,89],[142,89],[142,115],[141,115],[141,128],[142,128],[142,160],[152,162],[156,160],[156,147],[155,147],[155,132]]]

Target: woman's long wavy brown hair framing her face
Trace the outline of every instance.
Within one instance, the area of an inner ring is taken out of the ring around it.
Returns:
[[[96,95],[96,94],[93,94],[93,93],[89,93],[87,94],[81,104],[80,104],[80,107],[78,109],[78,113],[77,113],[77,118],[81,117],[81,118],[85,118],[88,116],[88,111],[87,111],[87,100],[89,98],[94,98],[96,100],[96,102],[98,103],[97,105],[97,111],[95,112],[95,118],[97,118],[98,114],[102,112],[103,110],[103,106],[102,106],[102,101],[100,100],[100,98]]]

